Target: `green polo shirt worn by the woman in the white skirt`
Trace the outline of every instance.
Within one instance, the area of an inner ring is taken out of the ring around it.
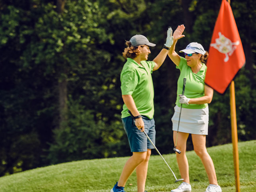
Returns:
[[[181,74],[179,75],[179,79],[177,82],[177,99],[176,99],[176,105],[181,106],[179,103],[179,94],[182,94],[182,88],[183,88],[183,78],[187,78],[186,80],[186,87],[184,95],[187,98],[198,98],[204,96],[204,79],[205,79],[205,73],[206,73],[206,65],[202,63],[202,67],[200,68],[200,71],[198,73],[193,73],[191,68],[187,65],[187,60],[184,57],[181,57],[181,61],[179,62],[179,67],[176,66],[176,68],[179,68],[181,71]],[[182,105],[182,108],[191,108],[191,109],[198,109],[198,108],[206,108],[208,104],[189,104],[189,105]]]

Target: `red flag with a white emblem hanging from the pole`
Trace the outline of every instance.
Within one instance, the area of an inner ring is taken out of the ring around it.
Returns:
[[[224,93],[244,63],[244,50],[231,7],[222,0],[210,44],[205,83]]]

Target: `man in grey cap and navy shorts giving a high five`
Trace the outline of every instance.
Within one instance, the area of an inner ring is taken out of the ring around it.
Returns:
[[[138,192],[145,191],[148,160],[154,146],[147,141],[145,131],[155,143],[154,122],[154,87],[151,73],[157,70],[166,59],[169,48],[173,43],[172,30],[167,30],[166,44],[153,61],[146,61],[150,47],[156,46],[143,35],[135,35],[126,42],[127,48],[123,57],[127,62],[121,72],[121,92],[124,101],[122,122],[127,134],[133,155],[127,160],[119,181],[111,192],[125,192],[125,184],[133,171],[137,173]],[[132,114],[132,116],[129,114]]]

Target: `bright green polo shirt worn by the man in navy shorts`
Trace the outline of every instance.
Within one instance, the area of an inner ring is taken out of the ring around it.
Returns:
[[[139,113],[152,119],[154,116],[154,87],[151,74],[155,62],[141,61],[141,65],[133,59],[127,58],[120,75],[121,92],[122,95],[131,95]],[[125,104],[121,113],[121,118],[130,116]]]

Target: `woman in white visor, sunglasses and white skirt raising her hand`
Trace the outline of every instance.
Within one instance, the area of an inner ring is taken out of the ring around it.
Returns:
[[[214,163],[206,150],[206,135],[208,134],[208,103],[211,103],[213,97],[213,89],[204,84],[206,73],[205,61],[208,57],[207,51],[204,50],[201,44],[190,43],[186,49],[179,52],[185,53],[185,58],[180,57],[175,52],[177,40],[183,38],[185,27],[179,25],[173,32],[173,45],[169,50],[169,57],[175,63],[176,68],[179,68],[181,74],[177,82],[177,100],[174,108],[175,112],[172,117],[173,122],[173,141],[176,143],[176,148],[181,151],[181,154],[176,153],[177,163],[181,178],[184,182],[171,192],[191,192],[189,182],[189,164],[186,157],[186,144],[189,133],[192,136],[194,151],[202,160],[206,173],[209,179],[209,186],[206,192],[221,192],[221,187],[218,185]],[[183,78],[186,78],[185,94],[181,95],[183,87]],[[179,112],[182,105],[182,114],[179,123],[179,133],[177,134],[177,125],[179,121]],[[186,104],[186,105],[184,105]]]

